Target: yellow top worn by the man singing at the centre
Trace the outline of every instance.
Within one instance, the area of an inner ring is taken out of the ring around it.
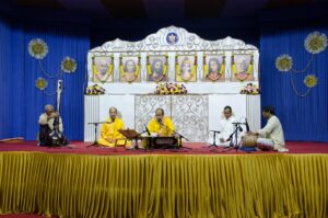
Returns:
[[[160,125],[156,118],[152,118],[149,124],[148,128],[150,133],[155,133],[161,136],[172,136],[174,131],[174,125],[171,121],[169,117],[164,116],[163,119],[163,125]]]

